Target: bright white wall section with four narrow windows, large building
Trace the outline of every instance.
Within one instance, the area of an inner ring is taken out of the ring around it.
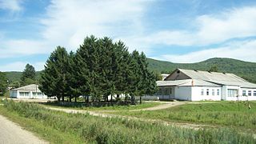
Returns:
[[[203,100],[213,100],[220,101],[222,97],[222,88],[221,87],[211,87],[211,86],[192,86],[192,100],[191,101],[203,101]],[[201,94],[203,89],[203,95]],[[209,90],[209,95],[206,94],[206,90]],[[212,93],[214,90],[214,95]],[[219,95],[217,94],[217,90],[220,90]]]

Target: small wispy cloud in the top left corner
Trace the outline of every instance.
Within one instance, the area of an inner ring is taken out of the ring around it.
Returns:
[[[0,0],[0,9],[18,12],[22,10],[22,0]]]

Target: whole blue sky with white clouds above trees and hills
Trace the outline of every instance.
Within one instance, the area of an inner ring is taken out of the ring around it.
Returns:
[[[256,62],[254,0],[0,0],[0,71],[43,70],[57,47],[121,40],[169,62]]]

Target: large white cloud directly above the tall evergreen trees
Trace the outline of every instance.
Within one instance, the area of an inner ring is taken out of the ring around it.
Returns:
[[[148,1],[54,0],[47,9],[42,36],[51,42],[76,49],[83,38],[135,34],[142,30],[141,18]]]

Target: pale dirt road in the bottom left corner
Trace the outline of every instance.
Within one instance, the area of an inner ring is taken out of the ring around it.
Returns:
[[[32,144],[32,143],[48,143],[42,139],[37,138],[34,134],[27,130],[23,130],[14,122],[0,115],[0,143],[12,144]]]

